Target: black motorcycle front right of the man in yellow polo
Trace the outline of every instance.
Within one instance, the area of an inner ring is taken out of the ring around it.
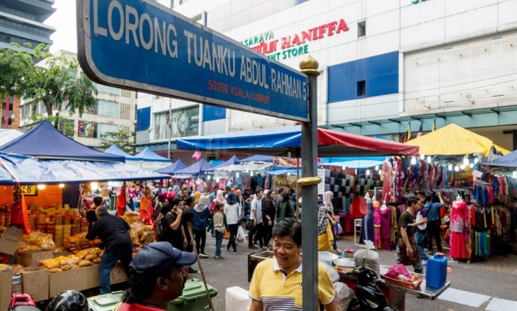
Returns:
[[[381,289],[377,286],[380,281],[376,272],[369,266],[358,267],[354,270],[357,282],[356,297],[349,303],[347,311],[397,311],[392,308]]]

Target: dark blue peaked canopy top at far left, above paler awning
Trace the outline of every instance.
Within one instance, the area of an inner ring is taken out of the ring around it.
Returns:
[[[7,144],[0,151],[34,156],[39,159],[84,160],[84,161],[118,161],[124,162],[123,156],[97,151],[85,146],[54,129],[47,120],[33,127]]]

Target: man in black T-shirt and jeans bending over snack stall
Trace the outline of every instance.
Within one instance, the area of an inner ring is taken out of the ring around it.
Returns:
[[[110,215],[104,206],[97,208],[97,222],[88,230],[84,239],[77,242],[78,246],[99,237],[104,246],[104,255],[99,264],[99,283],[101,294],[109,294],[110,272],[116,264],[121,261],[125,270],[128,270],[132,261],[133,242],[129,235],[130,226],[121,217]]]

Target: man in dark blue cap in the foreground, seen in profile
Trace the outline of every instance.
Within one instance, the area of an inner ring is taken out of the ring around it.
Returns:
[[[183,293],[187,281],[183,266],[196,260],[196,254],[182,252],[168,242],[147,244],[130,264],[130,287],[114,310],[167,310],[169,301]]]

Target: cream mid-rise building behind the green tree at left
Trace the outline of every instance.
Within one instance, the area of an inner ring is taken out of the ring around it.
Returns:
[[[54,55],[64,56],[68,61],[76,60],[77,54],[66,51],[59,51]],[[45,66],[45,61],[41,61],[37,65]],[[81,71],[81,67],[78,67]],[[74,137],[73,139],[81,144],[89,147],[99,147],[102,142],[103,134],[109,132],[117,132],[119,129],[126,133],[134,133],[136,126],[136,104],[137,93],[127,89],[118,89],[116,87],[108,87],[94,83],[97,87],[97,105],[83,112],[79,116],[77,111],[70,116],[70,112],[65,109],[66,103],[62,103],[61,107],[54,107],[52,114],[68,118],[73,122]],[[33,111],[33,109],[35,109]],[[47,109],[43,103],[37,105],[26,104],[22,100],[20,108],[20,129],[26,131],[27,125],[31,125],[32,114],[47,114]],[[129,142],[129,143],[132,143]]]

